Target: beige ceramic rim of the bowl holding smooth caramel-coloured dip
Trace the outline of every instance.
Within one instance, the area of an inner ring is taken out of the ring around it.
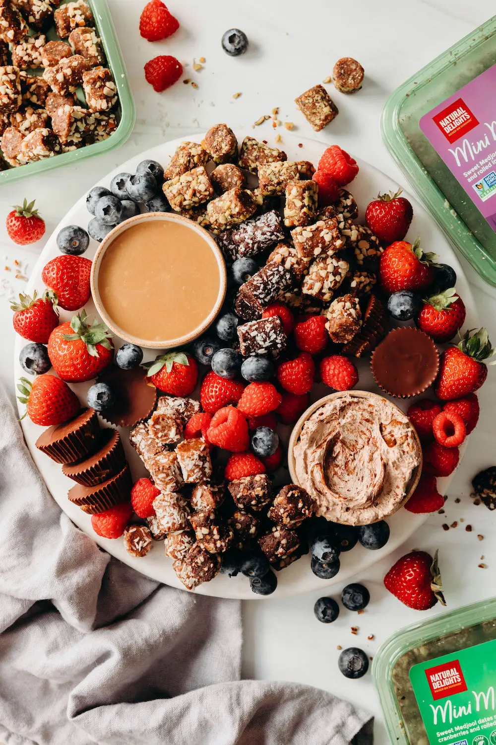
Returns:
[[[205,320],[199,326],[197,326],[196,329],[194,329],[192,332],[189,332],[189,334],[185,334],[181,337],[176,337],[175,339],[164,339],[158,341],[150,341],[147,339],[134,337],[126,333],[123,329],[120,329],[119,326],[116,326],[112,318],[109,317],[109,314],[103,307],[103,303],[100,299],[100,293],[98,292],[98,274],[100,272],[101,261],[106,250],[115,240],[115,238],[117,238],[118,235],[125,232],[133,225],[153,220],[181,222],[187,225],[190,229],[198,232],[199,235],[202,235],[204,240],[210,246],[210,249],[212,250],[213,255],[216,257],[216,261],[219,266],[219,294],[217,295],[216,303],[213,306],[212,311],[210,311],[210,313],[208,314],[207,318],[205,318]],[[91,297],[93,298],[94,305],[97,308],[100,317],[102,318],[104,323],[106,323],[106,326],[109,327],[110,331],[116,336],[120,337],[120,339],[123,339],[124,341],[131,344],[143,346],[145,349],[171,349],[174,346],[183,346],[184,344],[189,344],[197,339],[199,336],[201,336],[208,329],[208,327],[211,326],[220,309],[222,308],[222,303],[225,299],[227,282],[228,277],[225,268],[224,257],[222,256],[222,252],[219,249],[219,246],[216,244],[216,241],[213,239],[210,233],[193,220],[185,218],[183,215],[174,215],[171,212],[145,212],[141,215],[135,215],[134,217],[129,218],[129,220],[125,220],[119,225],[116,225],[115,228],[113,228],[105,236],[105,238],[103,238],[103,241],[97,248],[97,253],[95,253],[94,259],[91,263]]]

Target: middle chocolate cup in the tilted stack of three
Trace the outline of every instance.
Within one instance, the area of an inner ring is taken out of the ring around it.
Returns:
[[[80,463],[62,466],[62,473],[83,486],[96,486],[117,475],[126,465],[120,434],[115,429],[102,430],[100,449]]]

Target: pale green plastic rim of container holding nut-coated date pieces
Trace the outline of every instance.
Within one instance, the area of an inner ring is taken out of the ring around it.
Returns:
[[[63,0],[61,4],[64,4],[65,1],[68,0]],[[91,158],[91,156],[99,155],[100,153],[109,153],[112,150],[116,150],[116,148],[120,148],[120,145],[123,145],[132,133],[132,128],[135,126],[136,118],[135,102],[132,98],[126,67],[124,66],[124,60],[120,52],[120,46],[117,41],[117,35],[115,34],[109,6],[107,5],[106,0],[86,1],[91,7],[98,36],[102,40],[107,63],[109,69],[112,70],[112,75],[114,76],[115,84],[117,86],[117,92],[119,95],[119,101],[115,107],[117,120],[119,121],[117,129],[106,140],[94,142],[93,145],[86,145],[86,147],[80,148],[79,150],[72,150],[70,153],[62,153],[53,158],[45,158],[36,163],[21,165],[19,168],[9,168],[7,171],[1,171],[0,185],[2,183],[22,179],[25,176],[32,176],[33,174],[40,174],[43,171],[50,171],[52,168],[59,168],[68,163],[74,165],[75,163],[86,160],[87,158]],[[53,29],[48,32],[47,37],[49,39],[58,38]],[[77,91],[77,96],[84,101],[82,91]]]

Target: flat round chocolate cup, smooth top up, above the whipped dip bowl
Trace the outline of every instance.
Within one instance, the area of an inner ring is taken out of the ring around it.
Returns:
[[[376,383],[399,399],[423,393],[439,370],[439,352],[431,337],[413,326],[390,331],[370,362]]]

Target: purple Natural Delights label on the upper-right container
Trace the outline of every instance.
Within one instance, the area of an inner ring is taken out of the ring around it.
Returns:
[[[420,129],[496,231],[496,65],[422,116]]]

